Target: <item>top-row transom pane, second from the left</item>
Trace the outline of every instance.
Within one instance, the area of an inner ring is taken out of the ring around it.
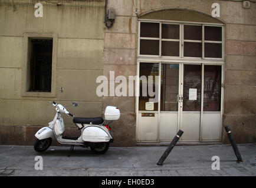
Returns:
[[[162,24],[162,39],[179,39],[179,25]]]

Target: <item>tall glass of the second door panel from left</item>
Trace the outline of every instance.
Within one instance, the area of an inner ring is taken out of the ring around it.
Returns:
[[[161,103],[162,111],[178,111],[179,64],[162,64],[161,69]]]

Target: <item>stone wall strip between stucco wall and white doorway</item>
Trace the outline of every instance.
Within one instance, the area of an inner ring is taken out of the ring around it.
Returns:
[[[132,1],[109,1],[108,7],[116,9],[116,19],[112,28],[104,29],[103,75],[110,80],[110,70],[114,76],[136,75],[137,17],[130,9]],[[128,6],[128,7],[127,7]],[[127,12],[126,12],[127,11]],[[135,87],[135,85],[134,85]],[[112,146],[134,146],[136,144],[135,97],[104,96],[103,111],[107,105],[117,106],[122,113],[119,120],[111,123],[114,136]]]

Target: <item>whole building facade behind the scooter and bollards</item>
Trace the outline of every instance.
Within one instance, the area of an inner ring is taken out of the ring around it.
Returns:
[[[35,16],[38,2],[42,17]],[[0,1],[0,144],[32,145],[54,116],[54,100],[78,102],[67,107],[78,117],[117,106],[122,115],[111,124],[112,146],[170,142],[179,129],[180,142],[228,143],[224,125],[238,143],[255,142],[256,3],[249,4]],[[96,79],[113,82],[111,71],[125,76],[127,95],[97,95]],[[142,80],[131,76],[152,76],[146,89],[155,96],[143,95]],[[65,133],[79,134],[63,118]]]

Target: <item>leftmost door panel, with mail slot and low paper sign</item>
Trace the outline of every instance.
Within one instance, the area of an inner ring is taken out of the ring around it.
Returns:
[[[139,113],[137,142],[158,140],[159,63],[139,64]]]

